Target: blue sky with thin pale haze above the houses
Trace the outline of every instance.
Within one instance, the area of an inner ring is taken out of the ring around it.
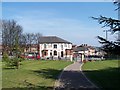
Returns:
[[[117,18],[115,8],[112,2],[3,2],[2,18],[16,20],[25,33],[40,32],[77,45],[99,46],[96,36],[105,37],[104,28],[90,17]]]

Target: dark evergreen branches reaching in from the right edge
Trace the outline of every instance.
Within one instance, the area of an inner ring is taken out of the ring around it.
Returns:
[[[118,5],[118,16],[120,15],[120,2],[114,2]],[[119,55],[120,56],[120,20],[100,16],[98,18],[92,17],[94,20],[97,20],[99,24],[102,24],[103,27],[109,27],[110,31],[114,34],[118,32],[118,38],[115,41],[109,41],[101,36],[97,36],[99,42],[102,44],[102,50],[104,50],[108,55]]]

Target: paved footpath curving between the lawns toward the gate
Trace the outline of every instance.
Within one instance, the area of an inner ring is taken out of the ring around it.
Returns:
[[[55,82],[54,90],[99,90],[81,71],[82,64],[67,66]]]

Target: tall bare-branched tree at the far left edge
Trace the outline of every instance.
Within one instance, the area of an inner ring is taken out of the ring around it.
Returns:
[[[15,20],[2,21],[2,46],[3,51],[12,54],[16,43],[20,44],[22,27]]]

